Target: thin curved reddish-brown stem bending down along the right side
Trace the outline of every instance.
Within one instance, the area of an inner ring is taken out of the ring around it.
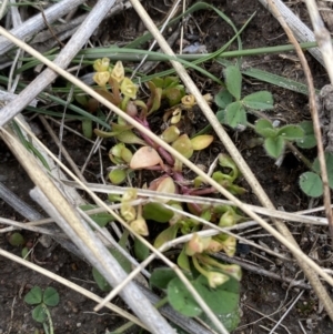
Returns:
[[[330,191],[330,188],[329,188],[329,176],[327,176],[327,169],[326,169],[325,156],[324,156],[324,146],[323,146],[323,141],[322,141],[322,132],[321,132],[321,125],[320,125],[320,120],[319,120],[317,109],[316,109],[316,103],[315,103],[315,90],[314,90],[314,87],[313,87],[313,78],[312,78],[307,61],[305,59],[305,55],[304,55],[299,42],[294,38],[293,32],[291,31],[291,29],[286,24],[283,17],[280,14],[278,8],[274,6],[272,0],[269,0],[269,3],[271,6],[271,10],[275,14],[275,18],[278,19],[278,21],[280,22],[280,24],[284,29],[284,31],[285,31],[287,38],[290,39],[291,43],[294,45],[294,48],[296,50],[296,53],[299,55],[299,59],[302,63],[305,78],[306,78],[306,82],[307,82],[307,87],[309,87],[309,104],[310,104],[310,111],[311,111],[312,121],[313,121],[314,134],[315,134],[316,143],[317,143],[317,155],[319,155],[319,161],[320,161],[320,166],[321,166],[321,176],[322,176],[323,184],[324,184],[325,214],[326,214],[326,217],[327,217],[327,221],[329,221],[329,226],[330,226],[330,232],[331,232],[331,237],[332,237],[333,236],[333,214],[332,214],[332,210],[331,210],[331,191]],[[300,266],[304,270],[304,267],[301,265],[301,263],[300,263]],[[305,269],[306,269],[306,265],[305,265]],[[304,270],[304,272],[306,274],[305,270]],[[320,282],[317,275],[313,274],[313,272],[310,271],[310,270],[307,270],[307,272],[311,275],[311,276],[307,276],[307,274],[306,274],[310,283],[312,284],[314,291],[316,292],[317,297],[323,303],[326,312],[329,313],[331,320],[333,321],[333,302],[332,302],[331,297],[329,296],[326,290],[324,289],[324,286]],[[313,281],[311,281],[310,279],[313,280]]]

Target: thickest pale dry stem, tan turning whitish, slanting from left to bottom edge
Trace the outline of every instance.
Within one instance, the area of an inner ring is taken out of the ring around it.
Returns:
[[[8,131],[1,129],[0,134],[20,163],[24,166],[34,184],[38,184],[42,190],[44,195],[42,194],[39,202],[43,202],[48,206],[47,211],[50,211],[54,221],[61,223],[61,227],[69,234],[84,256],[90,260],[90,263],[97,267],[111,285],[117,285],[124,280],[125,273],[119,263],[111,256],[101,241],[97,239],[94,233],[92,233],[92,230],[80,221],[71,204],[56,188],[50,178],[43,173],[34,158]],[[72,176],[74,175],[72,174]],[[51,203],[53,203],[54,206]],[[65,220],[63,220],[63,217],[65,217]],[[122,291],[122,297],[133,312],[143,320],[145,326],[152,333],[173,334],[172,328],[165,320],[161,317],[133,283],[130,283]]]

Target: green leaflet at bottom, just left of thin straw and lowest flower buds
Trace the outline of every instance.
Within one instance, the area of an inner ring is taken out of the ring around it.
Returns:
[[[185,316],[198,316],[202,312],[179,277],[174,277],[168,284],[168,301],[175,311]]]

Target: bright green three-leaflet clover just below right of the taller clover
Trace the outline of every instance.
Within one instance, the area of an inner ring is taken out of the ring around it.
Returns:
[[[278,159],[285,149],[285,142],[301,141],[304,139],[304,130],[300,125],[287,124],[274,128],[273,123],[265,119],[255,122],[254,130],[264,138],[264,149],[268,154]]]

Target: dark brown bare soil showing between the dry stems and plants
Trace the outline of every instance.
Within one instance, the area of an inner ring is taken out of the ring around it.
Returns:
[[[287,43],[287,38],[276,20],[272,18],[259,1],[246,1],[246,6],[244,6],[244,1],[241,0],[208,2],[222,10],[231,18],[238,28],[241,28],[249,17],[253,12],[256,12],[255,17],[242,33],[244,49]],[[160,22],[160,20],[164,18],[165,12],[170,9],[165,3],[168,4],[169,1],[144,1],[145,8],[148,8],[150,14],[157,22]],[[293,2],[292,9],[309,23],[306,10],[301,1]],[[193,19],[200,28],[200,31],[198,30],[198,27],[195,27]],[[198,41],[205,44],[209,52],[219,49],[233,36],[230,27],[218,19],[216,14],[212,11],[202,10],[193,14],[193,19],[189,23],[193,28],[191,33],[198,36]],[[137,34],[141,33],[142,29],[142,24],[134,11],[128,10],[115,18],[103,22],[100,34],[95,38],[102,39],[104,43],[112,43],[113,41],[128,42],[129,40],[134,39]],[[188,29],[190,31],[189,27]],[[105,34],[104,31],[110,32],[110,34]],[[129,34],[124,34],[124,31]],[[236,45],[232,45],[231,50],[235,48]],[[287,54],[294,55],[293,52]],[[329,82],[325,71],[309,53],[306,53],[306,59],[312,70],[315,88],[321,89]],[[280,54],[245,58],[243,59],[243,62],[245,62],[246,65],[255,67],[303,83],[305,82],[299,62],[284,59]],[[162,64],[157,70],[160,70],[161,67],[164,68],[165,65]],[[222,67],[216,63],[205,63],[204,67],[214,74],[222,75]],[[191,71],[191,75],[195,79],[195,82],[198,82],[198,85],[203,93],[214,93],[219,90],[219,87],[216,87],[215,83],[205,80],[200,74]],[[275,108],[270,115],[273,113],[274,119],[279,119],[282,124],[297,123],[304,119],[310,119],[307,97],[256,80],[244,79],[244,94],[259,90],[268,90],[273,93]],[[215,107],[213,108],[216,110]],[[195,126],[195,131],[201,130],[200,128],[205,125],[205,120],[201,120],[200,118],[202,117],[198,115],[198,120],[200,121],[196,121],[193,125]],[[41,125],[39,124],[39,126]],[[74,126],[80,128],[80,124],[74,123]],[[56,145],[52,143],[43,128],[41,129],[42,141],[57,152]],[[54,128],[54,130],[57,131],[57,128]],[[254,136],[253,132],[250,130],[241,133],[231,130],[228,131],[270,199],[273,201],[275,208],[283,208],[283,210],[287,212],[309,208],[309,198],[300,191],[297,185],[299,175],[305,171],[305,168],[294,158],[294,155],[292,155],[292,153],[287,153],[282,165],[278,168],[274,164],[274,161],[266,155],[262,146],[249,149],[246,143]],[[91,144],[80,140],[80,138],[74,136],[70,132],[65,132],[64,145],[67,145],[67,149],[75,163],[79,166],[82,165],[84,163],[84,158],[90,151]],[[215,142],[209,153],[199,155],[196,163],[209,166],[208,161],[211,162],[214,156],[223,150],[222,145]],[[310,151],[306,152],[306,154],[312,159],[314,158],[315,152]],[[0,142],[0,181],[28,204],[39,210],[38,205],[30,200],[28,194],[33,184],[2,142]],[[105,156],[104,162],[108,165],[108,156]],[[98,156],[94,156],[88,165],[85,176],[89,181],[99,182],[97,176],[94,176],[98,173],[99,160]],[[244,181],[241,185],[249,189]],[[251,192],[243,195],[242,200],[246,203],[259,204],[256,198]],[[321,201],[317,201],[316,204],[320,205]],[[24,217],[14,212],[2,200],[0,200],[0,212],[2,217],[21,222],[24,221]],[[289,224],[289,227],[300,243],[302,250],[307,254],[310,252],[311,254],[315,254],[320,263],[331,256],[330,237],[326,229],[309,227],[300,224]],[[22,232],[22,234],[30,243],[37,243],[38,235],[31,232]],[[258,243],[268,245],[271,250],[287,254],[286,250],[263,230],[258,229],[252,232],[248,231],[246,236]],[[20,255],[21,250],[11,246],[8,242],[8,237],[9,234],[0,234],[1,249]],[[51,246],[51,249],[52,250],[50,251],[40,243],[37,243],[32,261],[90,291],[99,293],[98,286],[92,279],[91,267],[85,262],[57,244],[54,247]],[[241,259],[259,267],[276,273],[282,277],[303,279],[294,262],[281,263],[275,257],[258,252],[256,250],[251,249],[249,254],[238,254],[236,259]],[[330,262],[325,262],[323,265],[330,269]],[[4,257],[0,257],[0,333],[34,333],[36,328],[40,331],[39,333],[42,333],[42,326],[32,320],[31,307],[23,301],[26,293],[33,285],[40,285],[43,289],[53,286],[60,294],[59,306],[52,307],[51,310],[56,333],[100,334],[107,333],[108,330],[112,331],[123,323],[120,317],[109,311],[102,310],[100,313],[94,313],[92,311],[94,307],[93,302],[70,289],[54,283],[52,280],[27,270]],[[329,286],[327,289],[332,294],[332,289]],[[242,318],[239,328],[234,333],[268,333],[270,330],[268,331],[266,328],[272,328],[273,324],[281,320],[282,315],[286,312],[287,307],[299,293],[299,289],[289,289],[289,285],[284,282],[275,281],[244,270],[240,305]],[[115,302],[122,305],[120,300]],[[300,324],[302,324],[304,331],[301,328]],[[139,330],[134,330],[132,333],[139,332]],[[282,325],[279,326],[274,333],[294,334],[305,332],[309,334],[333,333],[332,322],[325,315],[322,306],[319,305],[317,300],[311,290],[306,290],[303,293],[296,305],[292,307],[283,318]]]

